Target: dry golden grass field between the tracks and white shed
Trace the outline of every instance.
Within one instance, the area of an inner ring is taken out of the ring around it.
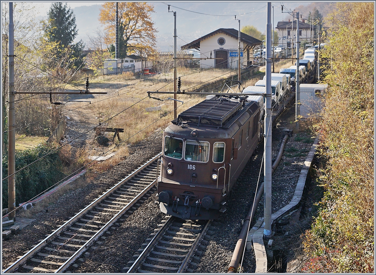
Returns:
[[[193,91],[199,89],[202,82],[221,81],[231,75],[228,72],[230,70],[213,69],[199,71],[197,69],[179,68],[178,76],[181,76],[182,81],[181,90]],[[225,75],[221,76],[223,74]],[[215,77],[218,78],[214,79]],[[93,119],[98,123],[102,123],[113,117],[108,122],[105,122],[104,126],[123,128],[124,133],[120,133],[121,140],[125,141],[125,143],[134,144],[146,138],[156,129],[164,129],[173,120],[174,102],[168,99],[168,97],[173,97],[172,94],[152,95],[162,101],[147,97],[147,91],[173,91],[173,74],[149,76],[141,81],[129,78],[129,75],[119,75],[110,76],[106,79],[107,85],[111,87],[101,90],[108,92],[107,97],[115,97],[108,100],[102,100],[102,98],[98,97],[97,100],[92,100],[95,115]],[[98,77],[91,81],[92,86],[96,87],[97,81],[99,84],[103,83],[103,79]],[[117,89],[117,87],[124,84],[128,86]],[[116,96],[117,93],[119,96]],[[180,113],[202,101],[203,96],[178,95],[177,99],[184,102],[183,104],[177,102],[177,112]],[[149,107],[160,109],[147,111],[146,108]]]

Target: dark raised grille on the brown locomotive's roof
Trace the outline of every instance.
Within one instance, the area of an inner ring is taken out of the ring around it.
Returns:
[[[206,99],[197,105],[183,111],[174,124],[179,122],[199,125],[222,127],[241,109],[240,102]]]

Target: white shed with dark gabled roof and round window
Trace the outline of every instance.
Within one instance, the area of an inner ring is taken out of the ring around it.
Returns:
[[[200,50],[200,68],[238,68],[238,30],[218,29],[184,46],[183,49]],[[240,33],[241,66],[252,62],[253,49],[262,41]],[[215,59],[216,58],[216,59]]]

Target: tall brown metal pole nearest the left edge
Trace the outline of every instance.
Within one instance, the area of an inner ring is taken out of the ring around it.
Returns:
[[[9,109],[8,109],[8,208],[9,219],[16,216],[16,160],[15,160],[15,109],[14,109],[14,24],[13,3],[9,3]]]

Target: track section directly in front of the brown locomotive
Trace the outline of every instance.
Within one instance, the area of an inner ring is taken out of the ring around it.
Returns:
[[[130,262],[127,273],[184,272],[210,222],[170,216],[150,242],[143,245],[144,250],[134,263]]]

